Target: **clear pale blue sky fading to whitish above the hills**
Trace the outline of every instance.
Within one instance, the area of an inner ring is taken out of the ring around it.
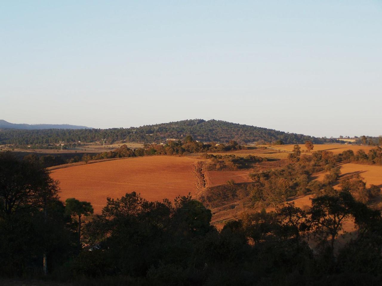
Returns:
[[[0,119],[382,135],[382,1],[1,1]]]

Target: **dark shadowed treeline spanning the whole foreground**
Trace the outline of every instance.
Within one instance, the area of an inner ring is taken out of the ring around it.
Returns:
[[[285,204],[246,213],[218,231],[211,211],[190,196],[148,202],[126,193],[92,215],[88,202],[60,201],[49,172],[11,153],[0,153],[0,182],[3,277],[39,277],[45,257],[45,279],[71,285],[382,282],[380,211],[346,190],[317,196],[307,210]],[[350,219],[357,232],[337,244]]]

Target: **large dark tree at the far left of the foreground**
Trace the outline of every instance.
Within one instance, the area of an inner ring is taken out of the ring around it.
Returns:
[[[73,254],[73,224],[58,183],[39,164],[0,153],[0,273],[36,274],[44,254],[55,268]]]

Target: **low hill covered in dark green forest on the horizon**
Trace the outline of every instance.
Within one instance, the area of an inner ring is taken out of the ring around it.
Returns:
[[[134,130],[135,133],[134,133]],[[228,142],[235,140],[240,144],[250,142],[273,142],[282,140],[285,144],[304,143],[312,140],[313,143],[332,142],[332,139],[316,138],[303,134],[286,133],[273,129],[250,125],[241,125],[226,121],[184,120],[155,125],[144,125],[131,128],[112,129],[44,129],[19,130],[3,129],[0,131],[1,144],[47,144],[58,141],[93,142],[107,138],[108,142],[126,140],[128,142],[164,142],[166,138],[181,139],[192,135],[195,140],[210,142]]]

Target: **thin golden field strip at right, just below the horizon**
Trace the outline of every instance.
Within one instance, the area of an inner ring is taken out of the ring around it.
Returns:
[[[269,148],[277,149],[277,150],[282,150],[282,151],[293,151],[293,147],[295,145],[275,145],[275,146],[270,146]],[[304,144],[299,144],[301,147],[301,151],[307,152],[307,149],[305,148]],[[346,144],[314,144],[314,148],[311,151],[330,151],[333,152],[334,154],[340,154],[345,150],[353,150],[354,153],[356,153],[358,150],[364,150],[366,153],[372,149],[375,148],[373,146],[362,146],[362,145],[346,145]],[[304,153],[304,154],[309,154],[309,153]]]

